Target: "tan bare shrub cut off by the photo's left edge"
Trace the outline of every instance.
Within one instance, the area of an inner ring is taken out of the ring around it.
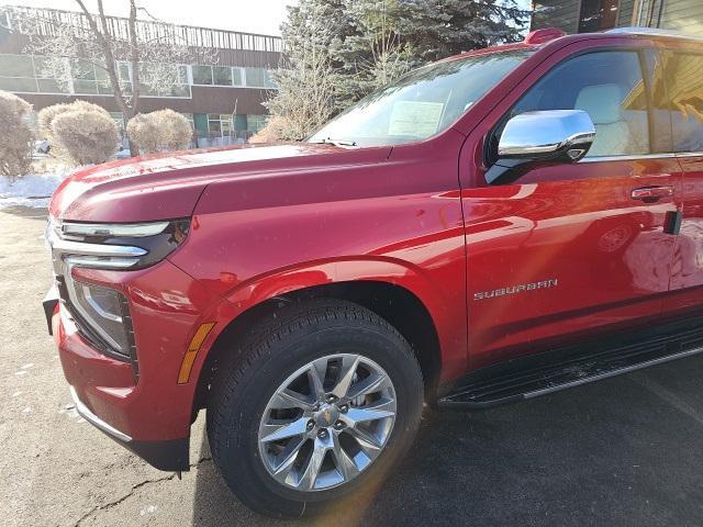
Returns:
[[[32,105],[13,93],[0,91],[0,175],[16,177],[30,171],[33,134],[26,122]]]

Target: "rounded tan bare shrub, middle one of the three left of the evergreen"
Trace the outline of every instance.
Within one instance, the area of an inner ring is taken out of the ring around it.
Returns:
[[[60,112],[51,121],[51,135],[78,165],[100,164],[118,149],[118,125],[105,111],[77,109]]]

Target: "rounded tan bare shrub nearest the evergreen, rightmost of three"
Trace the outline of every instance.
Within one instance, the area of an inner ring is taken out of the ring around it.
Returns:
[[[140,153],[182,150],[192,137],[188,120],[174,110],[140,113],[127,123],[127,135]]]

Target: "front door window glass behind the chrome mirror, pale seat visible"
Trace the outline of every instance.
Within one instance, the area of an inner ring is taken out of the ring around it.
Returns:
[[[647,92],[636,52],[595,52],[568,59],[531,88],[507,117],[536,110],[587,112],[595,125],[587,157],[650,153]]]

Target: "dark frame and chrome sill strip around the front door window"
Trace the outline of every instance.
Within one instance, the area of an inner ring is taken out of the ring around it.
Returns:
[[[609,156],[592,156],[584,157],[580,159],[578,162],[598,162],[598,161],[613,161],[613,160],[634,160],[634,159],[652,159],[652,158],[661,158],[661,157],[671,157],[672,145],[669,144],[669,150],[661,153],[652,153],[652,135],[654,135],[654,108],[652,108],[652,99],[651,99],[651,78],[654,72],[650,71],[647,60],[645,58],[645,54],[649,51],[655,54],[659,53],[659,49],[654,46],[643,46],[643,45],[634,45],[634,46],[598,46],[598,47],[589,47],[585,49],[581,49],[574,52],[567,57],[563,57],[561,60],[554,64],[544,75],[542,75],[538,79],[536,79],[531,86],[528,86],[518,97],[517,99],[510,105],[510,108],[495,121],[493,126],[489,130],[486,135],[486,141],[483,142],[483,164],[487,167],[493,166],[498,161],[498,142],[500,137],[496,135],[499,131],[502,131],[505,123],[510,119],[509,115],[513,111],[513,109],[531,92],[531,90],[537,86],[545,77],[550,75],[557,68],[560,68],[570,60],[573,60],[578,57],[582,57],[584,55],[592,55],[594,53],[635,53],[637,55],[637,61],[639,64],[639,71],[641,74],[641,78],[645,85],[645,93],[647,101],[647,137],[649,141],[649,153],[648,154],[625,154],[625,155],[609,155]],[[665,83],[666,86],[666,83]],[[668,91],[667,91],[668,96]],[[671,116],[669,116],[669,121],[671,122]]]

